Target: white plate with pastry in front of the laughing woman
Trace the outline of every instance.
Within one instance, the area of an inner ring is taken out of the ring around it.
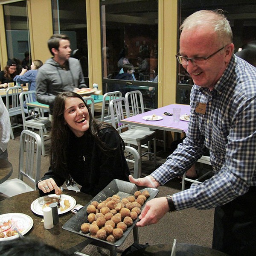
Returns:
[[[45,195],[35,199],[32,202],[30,209],[37,215],[43,216],[43,209],[49,207],[50,204],[58,202],[60,195],[51,194]],[[76,206],[76,200],[70,195],[61,195],[60,207],[58,207],[58,214],[71,211]]]

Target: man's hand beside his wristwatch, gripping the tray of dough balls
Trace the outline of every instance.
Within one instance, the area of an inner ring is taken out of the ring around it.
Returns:
[[[169,211],[169,205],[166,197],[154,198],[145,204],[137,222],[137,227],[156,224],[166,212]]]

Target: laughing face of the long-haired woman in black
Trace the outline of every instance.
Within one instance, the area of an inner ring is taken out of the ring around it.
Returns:
[[[64,119],[70,130],[81,137],[89,129],[90,116],[84,102],[76,97],[65,100]]]

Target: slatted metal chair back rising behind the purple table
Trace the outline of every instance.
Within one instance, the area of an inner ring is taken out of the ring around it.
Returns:
[[[140,113],[144,113],[144,103],[141,91],[135,90],[125,93],[125,99],[126,102],[128,102],[131,116],[136,116]]]

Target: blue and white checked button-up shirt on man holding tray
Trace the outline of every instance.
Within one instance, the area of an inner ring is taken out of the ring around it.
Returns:
[[[215,175],[172,199],[177,210],[210,209],[256,186],[256,68],[233,55],[214,90],[194,85],[190,102],[186,139],[151,175],[161,185],[181,176],[205,146]],[[205,113],[195,111],[197,103],[206,105]]]

